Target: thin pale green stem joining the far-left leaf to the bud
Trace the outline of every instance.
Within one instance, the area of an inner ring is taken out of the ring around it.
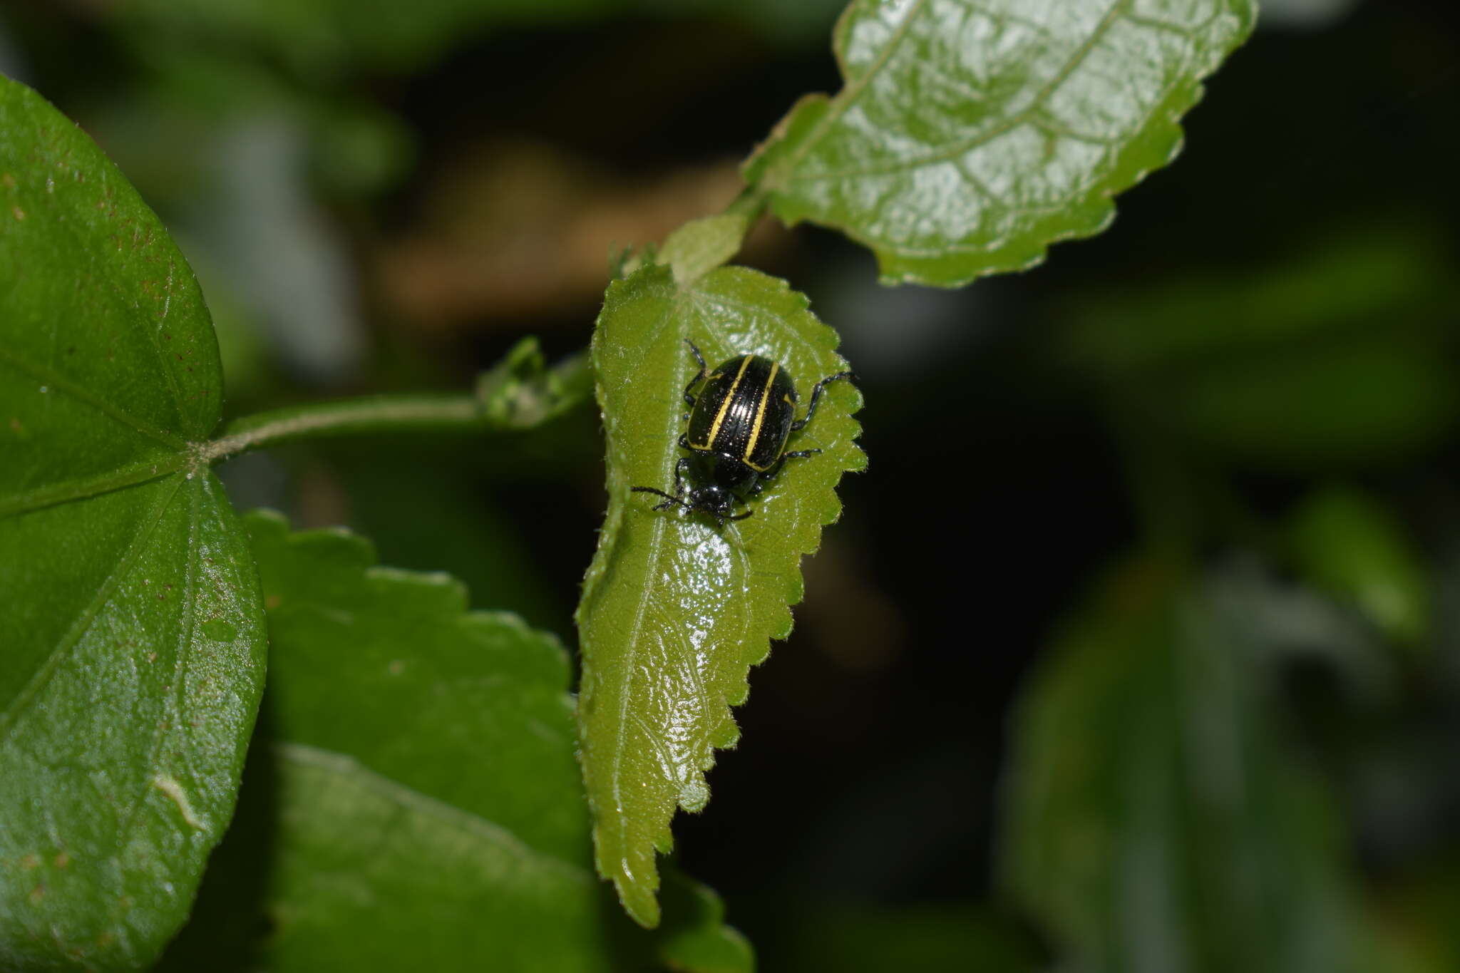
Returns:
[[[228,425],[212,442],[197,443],[196,455],[215,462],[258,446],[295,439],[402,429],[482,429],[489,425],[474,395],[368,395],[331,403],[292,406]]]

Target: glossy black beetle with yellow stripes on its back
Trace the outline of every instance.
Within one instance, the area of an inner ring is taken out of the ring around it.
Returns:
[[[656,511],[682,506],[689,512],[708,513],[720,525],[743,521],[753,511],[731,516],[736,500],[743,502],[759,493],[787,460],[821,452],[785,452],[785,441],[816,414],[822,388],[840,378],[856,376],[837,372],[816,382],[806,416],[796,419],[796,384],[780,362],[759,354],[737,354],[705,375],[705,357],[694,341],[686,338],[685,344],[699,363],[699,372],[685,387],[689,427],[679,438],[679,445],[689,455],[675,464],[673,493],[657,487],[632,487],[632,492],[664,497],[654,506]],[[699,382],[705,387],[696,398],[694,389]]]

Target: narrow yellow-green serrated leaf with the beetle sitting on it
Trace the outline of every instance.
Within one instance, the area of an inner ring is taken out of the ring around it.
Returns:
[[[704,773],[715,747],[739,732],[730,706],[745,702],[749,667],[769,639],[791,630],[800,559],[841,512],[837,481],[866,465],[850,417],[861,397],[834,382],[791,441],[822,454],[790,462],[752,502],[753,516],[717,530],[650,509],[653,499],[629,487],[673,483],[682,392],[696,371],[686,338],[711,365],[742,352],[781,362],[803,401],[813,381],[845,369],[831,328],[774,277],[721,267],[679,284],[656,265],[609,287],[591,349],[609,511],[578,607],[578,722],[599,872],[650,926],[658,919],[654,850],[672,846],[675,807],[698,811],[710,799]]]

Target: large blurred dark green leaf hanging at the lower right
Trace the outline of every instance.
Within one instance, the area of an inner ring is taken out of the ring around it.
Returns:
[[[1332,798],[1279,732],[1221,581],[1108,581],[1013,722],[1007,887],[1080,970],[1356,970]]]

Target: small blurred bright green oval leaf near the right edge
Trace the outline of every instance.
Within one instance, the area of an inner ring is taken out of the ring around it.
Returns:
[[[1409,645],[1428,635],[1428,575],[1378,500],[1353,487],[1318,490],[1292,513],[1289,541],[1317,588],[1358,607],[1386,635]]]

